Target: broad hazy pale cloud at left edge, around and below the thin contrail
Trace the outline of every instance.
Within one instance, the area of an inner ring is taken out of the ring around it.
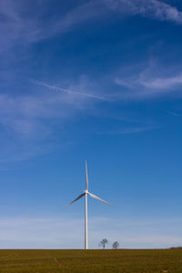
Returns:
[[[58,143],[65,124],[83,113],[94,113],[96,103],[107,101],[89,91],[92,84],[84,76],[68,86],[71,88],[35,81],[28,83],[27,95],[0,95],[1,162],[29,159],[62,147]],[[80,92],[74,91],[77,89]]]

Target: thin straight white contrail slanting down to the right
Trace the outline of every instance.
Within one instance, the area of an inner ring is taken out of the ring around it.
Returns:
[[[38,80],[32,80],[32,82],[34,84],[38,84],[40,86],[45,86],[45,87],[47,87],[49,89],[52,89],[52,90],[62,91],[62,92],[65,92],[65,93],[73,93],[73,94],[76,94],[76,95],[79,95],[79,96],[88,96],[88,97],[91,97],[91,98],[108,101],[108,99],[106,97],[103,97],[103,96],[95,96],[95,95],[92,95],[92,94],[77,92],[77,91],[74,91],[74,90],[71,90],[71,89],[61,88],[61,87],[58,87],[58,86],[52,86],[52,85],[48,85],[48,84],[46,84],[44,82],[40,82]]]

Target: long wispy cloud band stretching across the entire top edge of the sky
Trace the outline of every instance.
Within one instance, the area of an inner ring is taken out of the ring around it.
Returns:
[[[142,15],[160,21],[182,24],[177,7],[158,0],[92,0],[72,6],[65,13],[47,15],[52,2],[2,0],[0,10],[1,51],[20,44],[32,44],[54,35],[65,34],[76,26],[106,18],[112,12]],[[46,17],[46,20],[45,20]]]

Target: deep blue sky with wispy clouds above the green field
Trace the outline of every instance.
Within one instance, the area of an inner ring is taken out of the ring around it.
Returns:
[[[0,3],[0,247],[182,245],[182,3]]]

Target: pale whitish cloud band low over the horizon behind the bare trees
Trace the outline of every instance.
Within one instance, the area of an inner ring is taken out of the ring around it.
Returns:
[[[182,244],[181,218],[128,219],[89,217],[89,248],[103,235],[109,247],[169,248]],[[73,232],[74,228],[74,232]],[[1,217],[0,248],[83,248],[84,219],[80,217]]]

